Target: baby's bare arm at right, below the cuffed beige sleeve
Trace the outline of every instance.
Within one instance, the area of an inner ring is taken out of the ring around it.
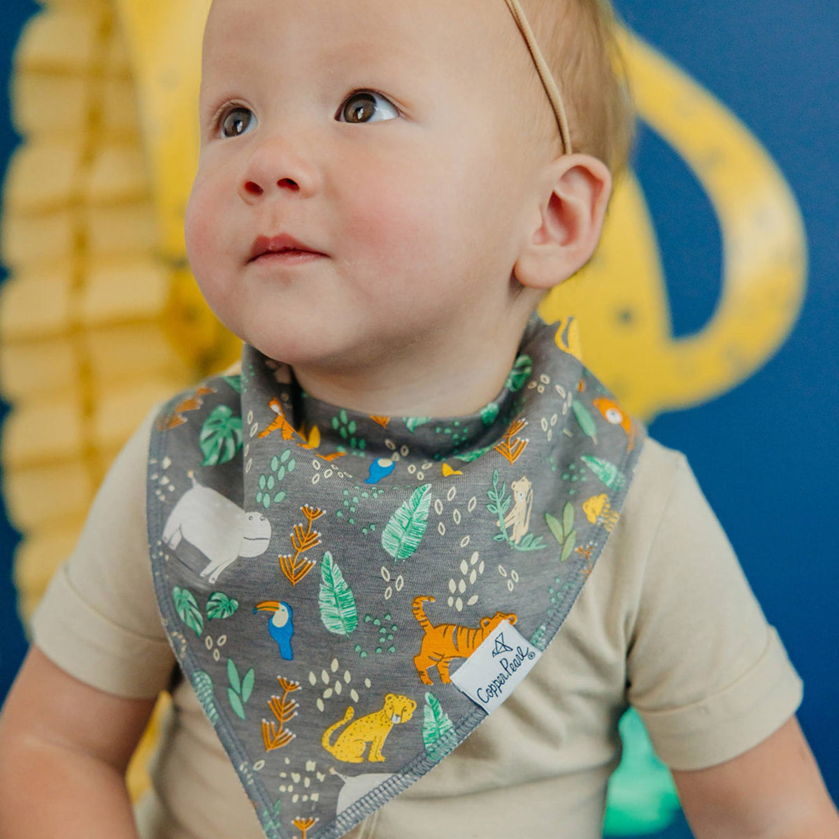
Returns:
[[[839,816],[795,717],[737,758],[673,777],[697,839],[839,839]]]

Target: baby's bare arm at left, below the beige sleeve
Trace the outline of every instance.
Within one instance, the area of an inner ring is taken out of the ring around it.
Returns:
[[[137,839],[125,771],[153,708],[86,685],[33,646],[0,716],[0,836]]]

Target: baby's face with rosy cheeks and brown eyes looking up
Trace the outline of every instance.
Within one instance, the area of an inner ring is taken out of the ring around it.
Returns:
[[[186,239],[221,320],[333,370],[492,334],[535,165],[515,38],[502,0],[215,0]]]

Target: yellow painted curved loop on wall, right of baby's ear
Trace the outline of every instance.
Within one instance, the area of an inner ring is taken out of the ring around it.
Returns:
[[[586,363],[649,419],[726,392],[777,351],[804,298],[806,243],[789,185],[748,128],[640,39],[624,33],[622,46],[638,112],[685,159],[717,212],[721,300],[701,331],[673,338],[654,230],[629,177],[598,258],[540,311],[551,322],[575,313]]]

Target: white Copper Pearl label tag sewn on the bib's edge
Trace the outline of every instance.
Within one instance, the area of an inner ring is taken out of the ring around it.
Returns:
[[[491,714],[528,675],[540,655],[512,623],[502,621],[451,674],[451,680]]]

